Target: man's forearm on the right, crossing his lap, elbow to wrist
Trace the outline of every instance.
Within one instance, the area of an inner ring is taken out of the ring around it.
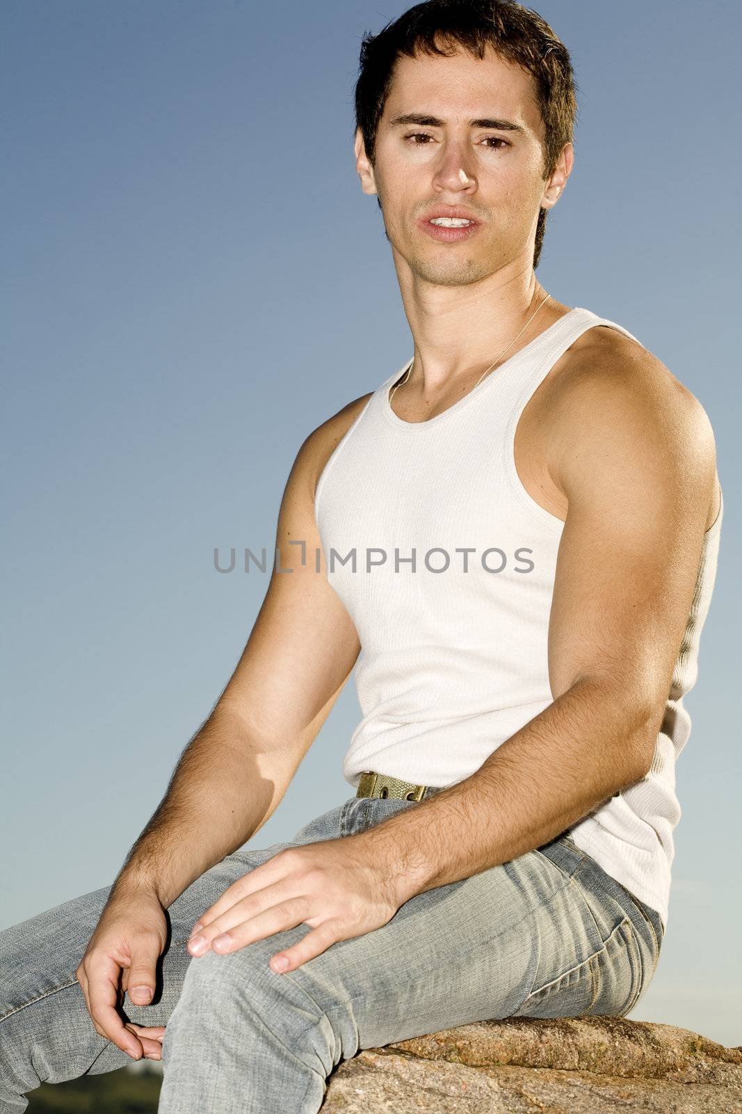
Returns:
[[[542,847],[641,781],[657,727],[603,686],[575,684],[471,776],[359,838],[408,900]]]

